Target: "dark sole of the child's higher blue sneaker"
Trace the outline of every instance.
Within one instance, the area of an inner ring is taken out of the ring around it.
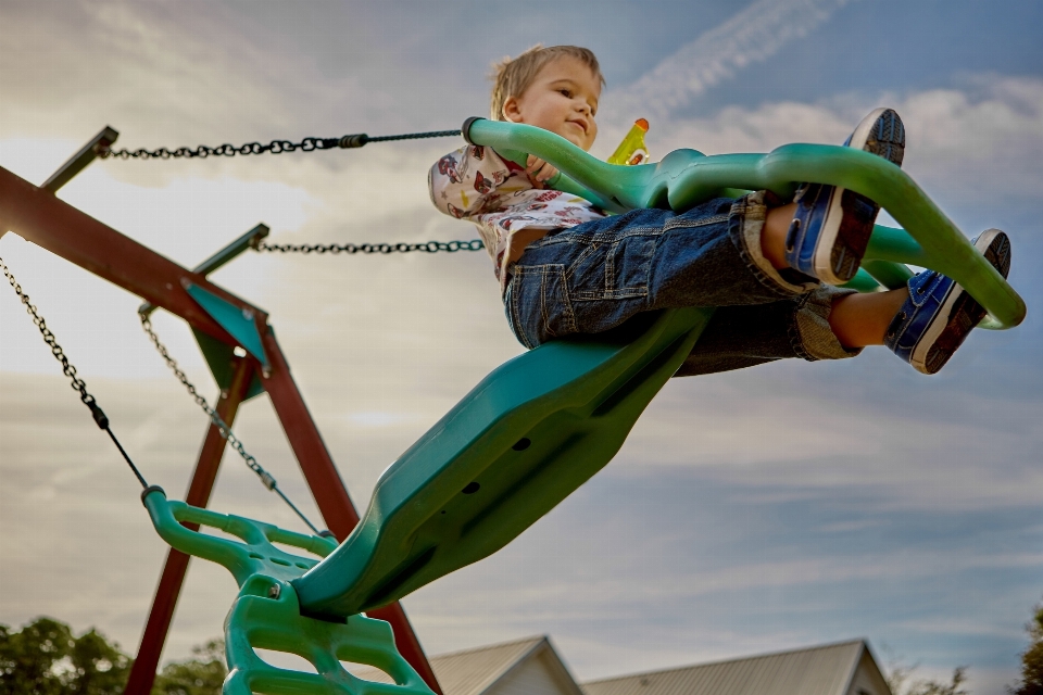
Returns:
[[[892,164],[902,166],[905,157],[905,126],[902,118],[892,109],[877,109],[862,119],[851,134],[844,147],[853,147],[876,154]],[[869,222],[854,219],[856,210],[869,206],[872,213]],[[834,188],[829,201],[826,219],[830,224],[822,229],[818,239],[818,249],[829,249],[830,254],[815,254],[815,276],[828,285],[843,285],[850,281],[862,265],[862,256],[872,236],[872,223],[880,207],[864,195],[843,188]],[[841,224],[847,220],[849,224]]]

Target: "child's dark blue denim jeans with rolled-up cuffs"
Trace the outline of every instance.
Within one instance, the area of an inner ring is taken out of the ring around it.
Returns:
[[[532,349],[570,333],[598,333],[639,312],[719,307],[677,376],[802,357],[838,359],[829,327],[841,290],[761,252],[765,195],[716,199],[684,213],[636,210],[551,231],[508,268],[504,308]]]

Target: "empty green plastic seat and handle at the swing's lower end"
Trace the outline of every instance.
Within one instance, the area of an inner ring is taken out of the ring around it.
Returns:
[[[168,502],[163,490],[155,486],[142,493],[142,501],[164,541],[183,553],[224,566],[239,584],[239,595],[225,619],[228,677],[222,688],[224,695],[432,695],[395,650],[387,622],[364,616],[331,622],[301,615],[290,581],[328,555],[337,546],[335,541]],[[196,525],[218,529],[241,542],[189,528]],[[274,543],[316,557],[287,553]],[[262,660],[255,649],[296,654],[316,672],[278,668]],[[344,669],[341,660],[372,666],[394,683],[363,680]]]

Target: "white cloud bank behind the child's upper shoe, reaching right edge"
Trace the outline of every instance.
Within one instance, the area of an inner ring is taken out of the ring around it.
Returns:
[[[675,149],[705,154],[769,152],[790,142],[840,144],[876,106],[892,106],[908,135],[903,169],[943,208],[1028,210],[1043,195],[1043,79],[977,76],[964,89],[842,94],[816,103],[726,106],[701,118],[653,122],[656,159]],[[972,236],[978,230],[965,230]]]

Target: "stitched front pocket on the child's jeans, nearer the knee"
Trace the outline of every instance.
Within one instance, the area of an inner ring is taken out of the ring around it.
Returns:
[[[657,233],[595,238],[568,267],[568,293],[576,301],[649,295]]]

